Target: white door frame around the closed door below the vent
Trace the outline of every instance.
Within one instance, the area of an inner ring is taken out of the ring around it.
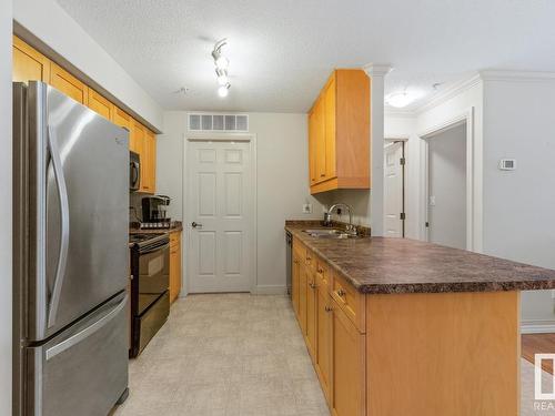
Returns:
[[[185,264],[185,275],[183,276],[184,284],[182,285],[182,292],[184,295],[188,295],[190,292],[190,276],[191,276],[191,263],[188,261],[188,255],[191,250],[192,239],[191,239],[191,222],[195,219],[191,216],[189,212],[188,197],[189,190],[191,189],[191,175],[189,174],[189,143],[191,142],[248,142],[250,143],[250,152],[251,152],[251,199],[252,199],[252,219],[250,221],[249,232],[251,234],[250,241],[250,257],[251,264],[249,265],[249,271],[251,273],[251,293],[256,292],[256,271],[258,271],[258,260],[256,260],[256,217],[258,217],[258,207],[256,207],[256,134],[249,133],[216,133],[216,132],[206,132],[206,133],[196,133],[196,132],[188,132],[184,134],[185,145],[183,146],[183,162],[184,168],[182,172],[183,177],[183,235],[185,237],[186,244],[182,244],[182,258],[186,262]]]

